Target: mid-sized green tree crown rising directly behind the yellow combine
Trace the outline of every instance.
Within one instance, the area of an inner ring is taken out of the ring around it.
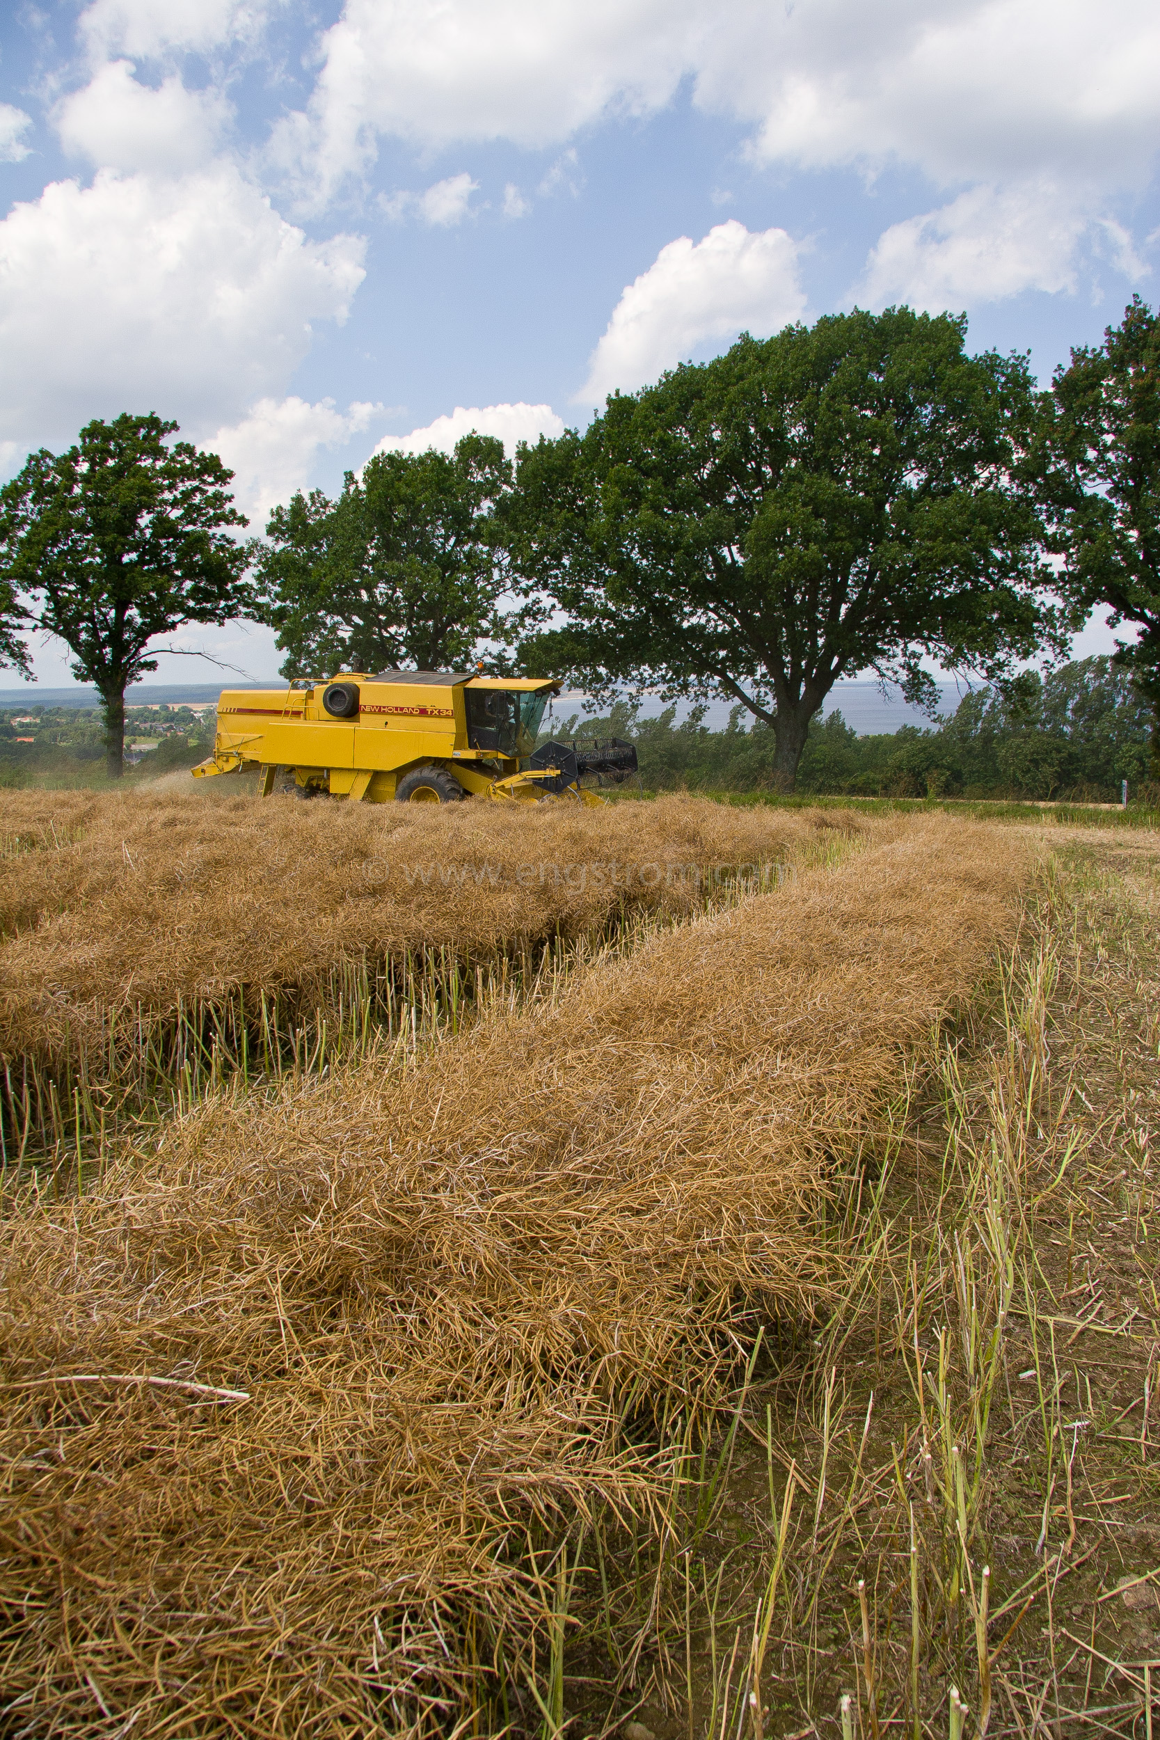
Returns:
[[[377,452],[337,501],[275,508],[270,543],[250,548],[282,673],[463,668],[480,642],[510,640],[492,512],[510,489],[503,444],[473,433],[454,454]]]

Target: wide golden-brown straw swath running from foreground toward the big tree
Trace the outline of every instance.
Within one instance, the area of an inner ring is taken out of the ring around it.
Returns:
[[[664,1564],[703,1409],[833,1298],[830,1169],[1014,936],[1033,858],[896,823],[550,1007],[203,1107],[12,1215],[19,1731],[527,1731],[530,1679],[558,1733],[565,1564],[546,1587],[536,1554],[610,1510]]]

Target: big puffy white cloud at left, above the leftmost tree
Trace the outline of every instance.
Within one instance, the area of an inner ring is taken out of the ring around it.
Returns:
[[[285,392],[311,320],[343,320],[363,244],[308,242],[235,167],[103,169],[0,223],[0,438],[155,409],[214,428]]]

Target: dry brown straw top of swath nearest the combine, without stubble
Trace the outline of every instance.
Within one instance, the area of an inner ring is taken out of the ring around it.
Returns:
[[[99,1054],[118,1023],[141,1042],[150,1021],[238,992],[313,1009],[344,959],[480,960],[623,910],[682,917],[706,875],[833,828],[690,797],[593,813],[0,793],[0,1058]]]

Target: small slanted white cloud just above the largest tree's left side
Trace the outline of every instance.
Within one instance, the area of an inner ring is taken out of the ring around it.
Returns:
[[[798,252],[784,230],[753,233],[736,218],[701,242],[670,242],[623,291],[576,402],[595,405],[617,386],[643,386],[710,339],[744,329],[769,338],[797,320],[805,308]]]

